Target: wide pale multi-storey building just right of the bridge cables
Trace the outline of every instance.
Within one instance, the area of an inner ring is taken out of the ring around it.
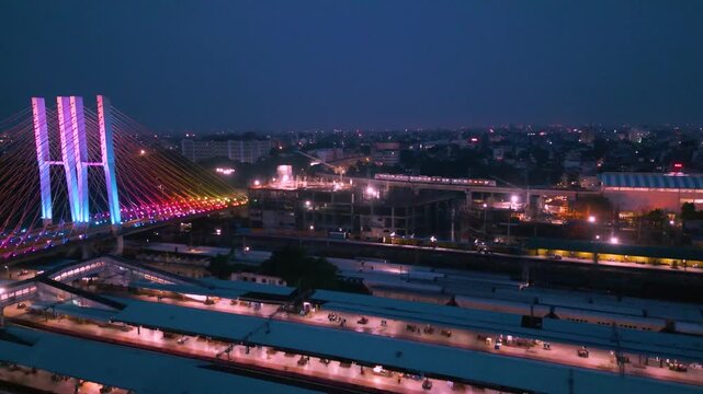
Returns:
[[[242,163],[256,163],[269,155],[271,140],[258,138],[241,138],[229,140],[181,140],[181,151],[191,161],[213,158],[227,158]]]

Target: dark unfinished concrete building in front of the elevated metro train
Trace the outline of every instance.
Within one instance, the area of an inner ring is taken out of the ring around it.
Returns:
[[[352,233],[363,240],[392,236],[450,237],[451,209],[460,193],[376,188],[306,179],[253,186],[249,220],[254,229]]]

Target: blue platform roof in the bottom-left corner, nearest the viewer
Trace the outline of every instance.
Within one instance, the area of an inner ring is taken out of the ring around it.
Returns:
[[[217,394],[231,389],[241,393],[311,392],[271,381],[217,372],[207,369],[208,363],[203,361],[21,327],[8,327],[5,331],[12,337],[32,345],[0,339],[2,361],[137,393]]]

